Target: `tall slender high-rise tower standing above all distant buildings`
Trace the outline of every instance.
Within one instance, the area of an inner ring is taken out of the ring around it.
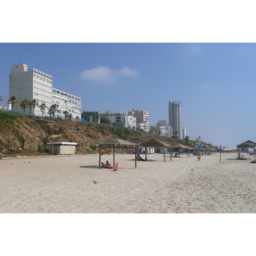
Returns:
[[[173,135],[183,139],[181,102],[169,101],[169,124]]]

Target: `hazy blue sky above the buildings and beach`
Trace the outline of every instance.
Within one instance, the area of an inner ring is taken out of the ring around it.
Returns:
[[[0,59],[2,98],[20,62],[53,76],[53,87],[80,96],[82,111],[136,108],[148,111],[156,125],[168,121],[168,102],[180,101],[192,139],[230,148],[256,141],[256,44],[2,43]]]

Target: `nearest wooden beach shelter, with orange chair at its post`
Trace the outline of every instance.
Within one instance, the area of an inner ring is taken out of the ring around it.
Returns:
[[[135,168],[137,168],[137,154],[138,154],[138,144],[131,143],[129,141],[120,140],[118,138],[113,140],[108,140],[102,143],[99,143],[99,168],[101,165],[101,150],[102,148],[113,148],[113,163],[115,164],[115,148],[130,148],[135,150]]]

